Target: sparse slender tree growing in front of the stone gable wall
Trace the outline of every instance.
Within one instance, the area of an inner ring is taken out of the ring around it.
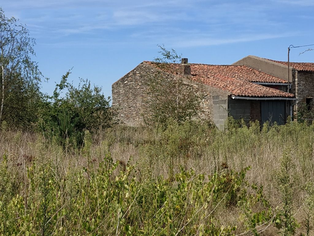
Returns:
[[[153,123],[165,124],[171,119],[178,124],[196,117],[200,96],[189,86],[181,68],[181,55],[158,45],[161,57],[154,60],[160,72],[148,81],[148,101]],[[164,72],[167,72],[167,76]]]

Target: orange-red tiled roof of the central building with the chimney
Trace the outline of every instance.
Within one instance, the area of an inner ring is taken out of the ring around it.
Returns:
[[[168,70],[170,67],[158,66],[153,62],[145,61],[149,65],[155,66],[162,70]],[[175,71],[180,64],[169,64]],[[201,82],[221,90],[230,92],[234,96],[241,97],[264,97],[264,98],[293,98],[294,94],[283,92],[278,89],[265,87],[252,83],[254,75],[263,78],[263,82],[269,81],[269,76],[258,70],[254,70],[247,66],[230,66],[230,65],[204,65],[204,64],[188,64],[191,66],[191,77],[189,79]],[[241,71],[243,69],[243,71]],[[172,71],[172,73],[174,73]],[[168,70],[168,72],[170,72]],[[276,77],[273,77],[276,78]],[[259,80],[261,81],[261,80]],[[272,81],[273,82],[273,81]],[[281,82],[281,81],[280,81]]]

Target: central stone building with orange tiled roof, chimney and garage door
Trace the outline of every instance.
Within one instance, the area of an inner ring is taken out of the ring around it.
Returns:
[[[241,62],[237,62],[241,64]],[[265,73],[245,65],[189,64],[182,59],[175,64],[183,71],[187,89],[202,95],[199,117],[224,125],[229,115],[245,121],[258,120],[284,124],[295,102],[295,95],[288,93],[287,80],[279,75]],[[149,116],[147,81],[169,79],[175,74],[144,61],[112,84],[112,106],[120,123],[129,126],[143,124]]]

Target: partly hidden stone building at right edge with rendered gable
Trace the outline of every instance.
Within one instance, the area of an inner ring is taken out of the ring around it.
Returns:
[[[268,75],[275,76],[284,80],[288,84],[288,62],[275,61],[271,59],[260,58],[256,56],[247,56],[232,65],[246,65]],[[289,65],[289,84],[290,93],[295,94],[296,102],[293,108],[295,114],[300,105],[314,113],[314,63],[308,62],[290,62]],[[279,88],[279,85],[265,85]],[[287,91],[287,86],[285,91]]]

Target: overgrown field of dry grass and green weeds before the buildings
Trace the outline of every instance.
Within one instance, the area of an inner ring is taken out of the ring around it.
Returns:
[[[2,130],[0,235],[313,235],[313,135],[170,122],[75,148]]]

